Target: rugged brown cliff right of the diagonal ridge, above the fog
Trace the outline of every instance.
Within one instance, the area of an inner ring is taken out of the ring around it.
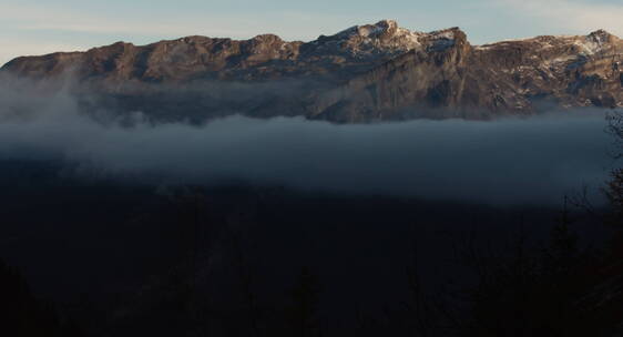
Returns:
[[[623,41],[604,31],[472,47],[458,29],[320,96],[315,113],[339,121],[487,119],[561,108],[623,106]],[[447,39],[447,40],[446,40]],[[425,109],[409,109],[420,106]],[[437,108],[431,110],[430,108]]]

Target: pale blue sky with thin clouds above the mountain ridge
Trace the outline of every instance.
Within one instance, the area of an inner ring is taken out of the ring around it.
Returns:
[[[623,0],[0,0],[0,64],[22,54],[136,44],[190,34],[313,40],[395,19],[430,31],[459,25],[474,44],[539,34],[623,37]]]

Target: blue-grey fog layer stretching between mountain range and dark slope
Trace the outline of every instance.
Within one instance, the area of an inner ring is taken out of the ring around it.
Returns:
[[[365,125],[229,116],[203,126],[136,113],[125,127],[94,122],[62,91],[16,88],[0,93],[1,160],[62,159],[109,177],[559,205],[584,185],[598,191],[614,164],[604,111]]]

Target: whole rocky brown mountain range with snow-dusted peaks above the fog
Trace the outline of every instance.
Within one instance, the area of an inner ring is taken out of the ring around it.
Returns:
[[[86,108],[154,120],[232,113],[334,122],[491,119],[549,106],[623,106],[623,40],[603,30],[471,45],[458,28],[384,20],[312,42],[187,37],[22,57],[0,74],[67,85]]]

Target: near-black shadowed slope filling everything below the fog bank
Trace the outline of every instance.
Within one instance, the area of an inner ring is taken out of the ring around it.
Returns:
[[[0,164],[0,202],[10,205],[0,210],[2,336],[611,337],[623,328],[622,236],[576,208],[279,186],[154,191],[59,178],[53,163]],[[603,235],[611,244],[590,248]]]

